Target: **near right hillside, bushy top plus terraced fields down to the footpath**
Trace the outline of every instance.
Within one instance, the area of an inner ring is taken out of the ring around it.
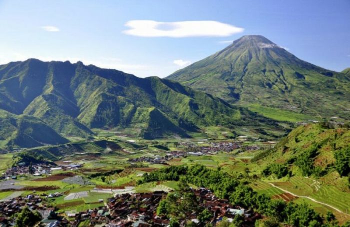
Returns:
[[[350,209],[350,128],[329,123],[307,124],[292,130],[274,148],[252,159],[259,182],[298,196],[307,196],[347,215]],[[275,189],[275,188],[273,188]],[[304,198],[295,202],[304,201]],[[307,200],[306,200],[307,202]],[[333,210],[333,209],[332,209]]]

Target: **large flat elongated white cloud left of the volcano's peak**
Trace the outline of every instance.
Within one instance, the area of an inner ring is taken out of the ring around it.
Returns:
[[[244,29],[214,20],[189,20],[159,22],[154,20],[129,20],[130,27],[123,33],[142,37],[194,37],[194,36],[230,36]]]

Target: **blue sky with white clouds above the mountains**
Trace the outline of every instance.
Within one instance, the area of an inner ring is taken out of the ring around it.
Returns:
[[[0,64],[81,60],[164,77],[260,34],[340,71],[350,67],[349,10],[350,0],[0,0]]]

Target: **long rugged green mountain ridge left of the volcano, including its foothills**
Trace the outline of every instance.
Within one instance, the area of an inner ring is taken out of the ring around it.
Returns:
[[[277,126],[178,82],[37,59],[0,65],[0,122],[2,148],[89,138],[93,128],[136,127],[151,139],[173,133],[188,137],[205,126]]]

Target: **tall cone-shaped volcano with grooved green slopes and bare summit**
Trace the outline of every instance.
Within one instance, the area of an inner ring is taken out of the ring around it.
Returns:
[[[230,103],[261,105],[313,117],[350,117],[348,75],[302,61],[260,35],[243,36],[166,79]]]

